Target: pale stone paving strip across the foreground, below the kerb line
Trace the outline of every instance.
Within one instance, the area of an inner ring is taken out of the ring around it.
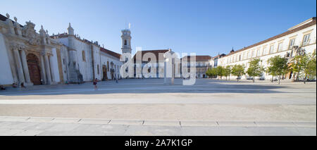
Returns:
[[[189,122],[79,118],[0,117],[4,136],[102,135],[312,135],[316,122]]]

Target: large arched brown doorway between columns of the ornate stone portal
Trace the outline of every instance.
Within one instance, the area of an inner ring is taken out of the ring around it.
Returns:
[[[39,58],[35,54],[27,54],[27,67],[33,85],[42,85],[41,73],[39,72]]]

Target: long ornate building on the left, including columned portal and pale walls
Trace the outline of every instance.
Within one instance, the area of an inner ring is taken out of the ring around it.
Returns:
[[[120,54],[98,42],[80,39],[69,24],[68,33],[39,33],[31,21],[20,25],[0,15],[0,85],[53,85],[120,77]]]

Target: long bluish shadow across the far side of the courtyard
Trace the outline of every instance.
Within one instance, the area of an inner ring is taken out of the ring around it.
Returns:
[[[92,82],[80,85],[37,85],[27,88],[8,88],[0,91],[3,96],[63,95],[63,94],[160,94],[160,93],[245,93],[267,94],[287,93],[274,89],[289,88],[283,85],[251,84],[247,81],[197,79],[195,85],[182,85],[182,79],[175,79],[175,85],[164,85],[163,79],[128,79],[98,83],[94,91]]]

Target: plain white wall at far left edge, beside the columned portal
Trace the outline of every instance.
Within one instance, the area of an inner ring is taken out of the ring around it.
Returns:
[[[12,72],[8,60],[8,51],[4,44],[4,36],[0,33],[0,85],[11,85],[13,83]]]

